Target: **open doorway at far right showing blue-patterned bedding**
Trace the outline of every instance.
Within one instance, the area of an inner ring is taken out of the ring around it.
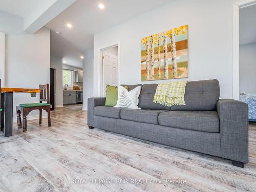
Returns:
[[[239,9],[239,100],[256,122],[256,4]]]

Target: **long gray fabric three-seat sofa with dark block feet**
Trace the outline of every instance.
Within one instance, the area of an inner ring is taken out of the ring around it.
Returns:
[[[138,85],[127,85],[129,91]],[[232,160],[248,162],[248,105],[219,99],[219,81],[187,82],[186,105],[153,102],[157,84],[144,84],[142,110],[104,106],[105,98],[88,99],[88,125],[99,129]]]

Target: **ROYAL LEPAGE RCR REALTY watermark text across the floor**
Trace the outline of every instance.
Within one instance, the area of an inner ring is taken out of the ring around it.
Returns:
[[[184,184],[186,180],[181,179],[121,179],[121,178],[98,178],[98,179],[85,179],[85,178],[74,178],[71,179],[71,184]]]

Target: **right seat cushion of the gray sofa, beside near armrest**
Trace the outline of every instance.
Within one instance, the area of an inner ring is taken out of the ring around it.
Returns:
[[[220,120],[216,111],[169,111],[158,116],[160,125],[179,129],[218,133]]]

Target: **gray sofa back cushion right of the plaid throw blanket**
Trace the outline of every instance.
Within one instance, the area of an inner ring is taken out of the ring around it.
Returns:
[[[186,105],[174,105],[171,111],[214,111],[220,97],[219,81],[216,79],[190,81],[186,84]]]

